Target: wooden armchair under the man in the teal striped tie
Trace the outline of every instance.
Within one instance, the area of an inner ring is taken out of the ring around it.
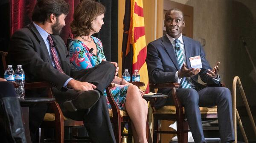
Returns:
[[[224,87],[224,84],[221,84]],[[188,123],[184,120],[184,107],[181,106],[179,98],[176,94],[176,88],[180,87],[177,83],[166,84],[150,84],[150,92],[154,93],[154,89],[159,88],[171,88],[172,98],[174,100],[174,106],[164,106],[161,109],[154,108],[155,99],[150,101],[153,110],[153,143],[158,143],[159,134],[177,134],[178,143],[188,142]],[[217,107],[207,108],[200,107],[202,120],[216,120],[217,119]],[[177,131],[160,131],[159,121],[169,120],[177,121]]]

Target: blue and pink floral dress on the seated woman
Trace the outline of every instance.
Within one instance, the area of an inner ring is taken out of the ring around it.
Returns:
[[[97,55],[91,53],[84,42],[80,40],[71,40],[69,44],[69,53],[70,53],[70,61],[75,65],[78,69],[87,69],[96,66],[97,64],[101,63],[102,60],[106,60],[105,55],[103,53],[102,42],[96,38],[91,36],[94,43],[97,47]],[[124,110],[124,104],[126,99],[126,93],[128,90],[128,85],[122,85],[113,87],[111,89],[111,95],[113,96],[116,104],[118,105],[119,109]],[[104,90],[104,95],[107,100],[108,108],[111,109],[111,105],[107,98],[106,90]]]

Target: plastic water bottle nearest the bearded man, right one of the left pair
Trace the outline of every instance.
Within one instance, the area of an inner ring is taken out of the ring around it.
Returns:
[[[18,98],[23,98],[25,95],[25,73],[20,64],[17,65],[17,69],[15,70],[15,82],[18,84],[18,88],[16,89],[16,94]]]

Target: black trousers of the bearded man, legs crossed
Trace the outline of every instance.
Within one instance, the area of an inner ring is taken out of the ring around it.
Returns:
[[[113,81],[115,69],[116,67],[110,62],[102,62],[88,69],[80,78],[76,76],[76,78],[79,78],[79,81],[86,81],[96,85],[96,90],[99,90],[101,93],[99,101],[87,110],[78,110],[76,112],[67,111],[63,107],[63,102],[67,99],[76,98],[77,92],[71,89],[65,92],[53,89],[53,93],[61,106],[63,114],[73,120],[84,121],[84,125],[93,143],[116,143],[109,118],[107,101],[103,95],[105,88]],[[81,74],[79,73],[79,75]]]

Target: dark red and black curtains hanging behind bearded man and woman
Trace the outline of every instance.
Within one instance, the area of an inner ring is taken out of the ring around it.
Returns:
[[[62,29],[61,38],[67,42],[70,36],[70,23],[73,20],[73,12],[80,0],[66,0],[70,4],[70,12]],[[104,25],[101,31],[94,36],[101,39],[104,53],[108,61],[118,61],[118,0],[98,0],[106,7]],[[31,23],[32,11],[36,0],[0,0],[0,11],[4,15],[0,19],[0,50],[8,51],[10,36],[20,28]],[[0,77],[3,77],[2,59],[0,59]]]

